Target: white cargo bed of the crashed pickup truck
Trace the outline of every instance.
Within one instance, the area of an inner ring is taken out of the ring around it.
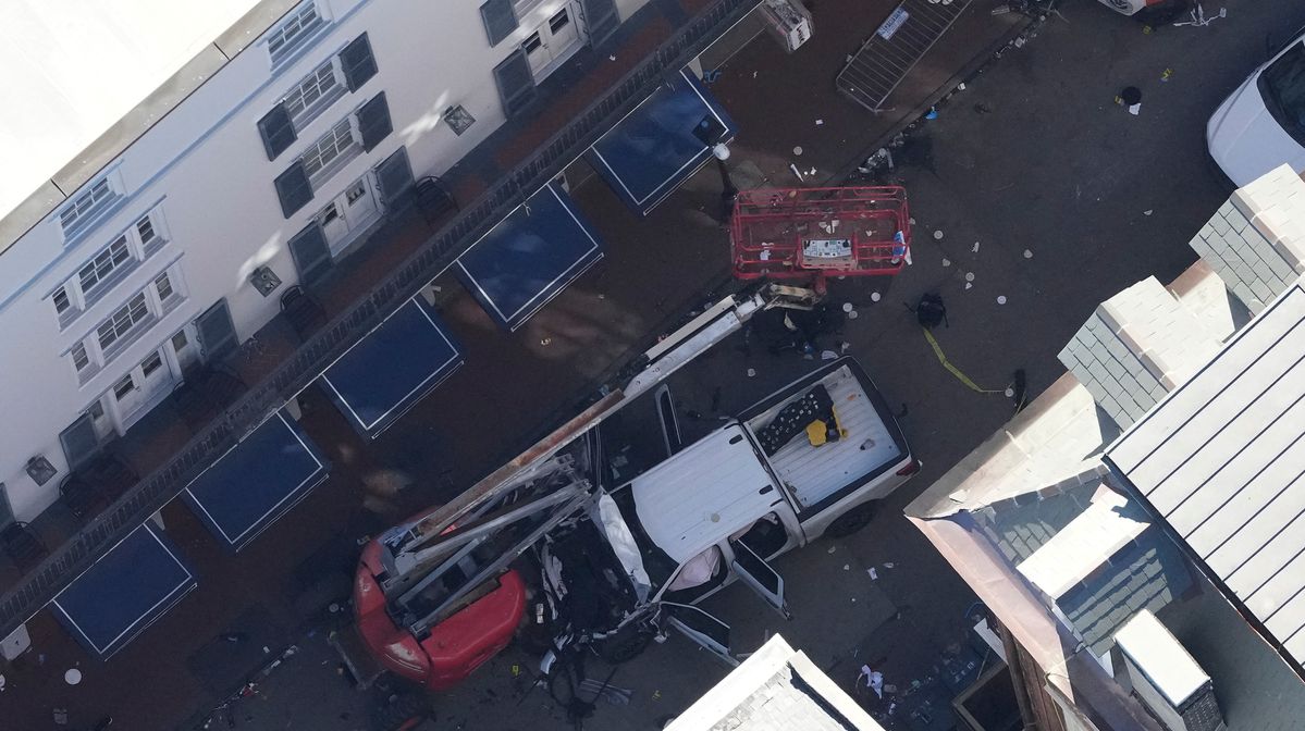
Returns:
[[[867,385],[863,386],[864,375],[859,373],[860,368],[850,359],[839,363],[831,372],[804,380],[776,394],[778,402],[746,420],[756,436],[780,409],[801,398],[816,384],[823,384],[829,390],[838,423],[847,436],[812,446],[806,436],[800,433],[770,457],[771,466],[800,509],[816,508],[840,490],[864,483],[906,456],[900,431],[891,415],[881,415],[885,407],[873,385],[867,379]],[[867,388],[870,393],[867,393]]]

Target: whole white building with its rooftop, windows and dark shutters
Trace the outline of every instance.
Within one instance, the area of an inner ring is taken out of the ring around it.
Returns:
[[[0,127],[0,522],[50,506],[82,456],[249,338],[414,179],[457,163],[645,3],[8,10],[0,56],[20,81],[0,94],[31,114]],[[266,295],[264,269],[282,281]]]

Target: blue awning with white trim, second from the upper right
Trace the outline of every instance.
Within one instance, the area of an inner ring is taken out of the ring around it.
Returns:
[[[600,258],[598,235],[549,183],[472,244],[458,274],[491,317],[515,330]]]

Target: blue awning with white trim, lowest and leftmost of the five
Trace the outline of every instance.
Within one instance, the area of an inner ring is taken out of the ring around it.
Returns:
[[[194,574],[151,523],[132,531],[50,603],[100,659],[121,650],[194,589]]]

